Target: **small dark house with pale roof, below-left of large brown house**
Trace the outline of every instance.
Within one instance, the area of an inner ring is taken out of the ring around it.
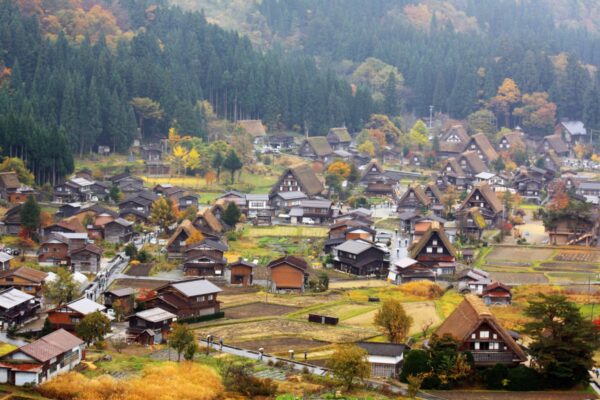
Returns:
[[[127,334],[145,346],[165,343],[176,320],[173,313],[160,307],[150,308],[129,317]]]

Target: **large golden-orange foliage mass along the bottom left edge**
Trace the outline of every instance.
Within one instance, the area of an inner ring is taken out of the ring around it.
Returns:
[[[58,400],[211,400],[221,396],[223,386],[209,367],[170,362],[146,366],[140,377],[122,380],[108,375],[89,379],[69,372],[42,384],[39,391]]]

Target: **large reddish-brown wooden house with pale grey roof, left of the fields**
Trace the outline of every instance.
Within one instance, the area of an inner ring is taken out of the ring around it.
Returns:
[[[197,318],[220,312],[217,295],[221,289],[204,278],[171,282],[155,289],[156,295],[146,299],[146,308],[159,307],[178,319]]]

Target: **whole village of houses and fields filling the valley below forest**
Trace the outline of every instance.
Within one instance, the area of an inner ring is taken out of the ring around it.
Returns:
[[[369,138],[394,128],[373,118],[367,139],[239,121],[252,149],[209,161],[230,176],[186,175],[192,155],[177,156],[187,139],[175,132],[129,156],[95,155],[50,190],[21,182],[22,166],[0,173],[0,383],[127,377],[132,364],[213,354],[251,361],[252,376],[277,382],[271,393],[302,396],[323,385],[281,388],[301,372],[330,376],[348,343],[367,355],[368,386],[389,393],[457,398],[439,390],[462,393],[461,380],[491,367],[535,381],[518,367],[531,362],[535,297],[564,296],[590,321],[600,300],[598,164],[576,155],[590,140],[583,123],[534,140],[417,120],[435,149],[406,153],[373,151]],[[381,320],[397,305],[409,322],[394,330]],[[407,381],[419,349],[446,337],[471,366]],[[538,388],[520,385],[494,389]],[[591,398],[555,394],[544,398]]]

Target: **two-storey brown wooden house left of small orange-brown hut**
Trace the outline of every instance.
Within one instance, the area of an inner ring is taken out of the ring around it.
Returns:
[[[186,246],[183,273],[186,276],[223,276],[227,250],[226,244],[209,239]]]

